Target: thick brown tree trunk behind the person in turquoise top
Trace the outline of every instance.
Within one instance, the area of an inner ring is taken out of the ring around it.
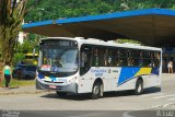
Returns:
[[[26,14],[26,2],[27,0],[0,1],[0,45],[3,62],[12,62],[16,37]]]

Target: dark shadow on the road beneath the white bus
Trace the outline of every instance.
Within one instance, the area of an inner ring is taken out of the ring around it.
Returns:
[[[149,87],[145,89],[143,94],[152,94],[160,92],[161,87]],[[115,91],[115,92],[106,92],[102,98],[107,97],[121,97],[121,96],[136,96],[133,91]],[[69,93],[66,96],[58,96],[55,92],[50,92],[48,94],[42,95],[40,97],[45,98],[59,98],[59,100],[72,100],[72,101],[85,101],[91,100],[90,94],[72,94]]]

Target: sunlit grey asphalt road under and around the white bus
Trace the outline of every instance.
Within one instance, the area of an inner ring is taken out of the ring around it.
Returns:
[[[174,87],[175,74],[163,74],[161,89],[147,89],[139,96],[130,92],[105,93],[100,100],[86,94],[60,98],[55,92],[1,95],[0,110],[19,110],[20,117],[164,117],[159,110],[175,103]],[[175,106],[168,109],[175,110]],[[171,114],[175,117],[175,112]]]

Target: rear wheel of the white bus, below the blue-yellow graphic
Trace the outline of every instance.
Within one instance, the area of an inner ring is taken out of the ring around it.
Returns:
[[[143,82],[142,82],[142,80],[138,80],[136,82],[135,94],[136,95],[141,95],[142,93],[143,93]]]

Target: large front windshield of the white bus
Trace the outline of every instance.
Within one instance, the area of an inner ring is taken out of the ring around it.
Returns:
[[[78,48],[43,46],[39,52],[39,71],[67,77],[78,71]]]

